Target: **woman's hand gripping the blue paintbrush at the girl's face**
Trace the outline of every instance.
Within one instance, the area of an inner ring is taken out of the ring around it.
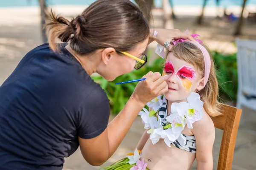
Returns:
[[[159,72],[150,71],[142,78],[146,79],[137,84],[131,95],[139,104],[145,106],[147,102],[168,91],[168,85]]]

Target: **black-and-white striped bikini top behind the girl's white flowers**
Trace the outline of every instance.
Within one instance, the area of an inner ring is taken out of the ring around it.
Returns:
[[[166,126],[166,123],[168,123],[168,121],[166,120],[166,116],[167,116],[167,104],[166,102],[163,102],[162,107],[159,108],[158,111],[158,115],[161,118],[161,122],[162,122],[162,126]],[[195,136],[194,135],[184,135],[182,134],[185,139],[186,139],[186,144],[185,145],[181,145],[178,140],[176,140],[175,142],[171,143],[173,146],[180,148],[182,150],[186,150],[188,152],[191,153],[196,153],[196,143],[195,143]]]

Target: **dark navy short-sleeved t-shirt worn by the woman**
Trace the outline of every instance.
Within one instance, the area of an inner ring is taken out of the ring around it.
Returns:
[[[108,125],[105,91],[62,45],[30,51],[0,87],[0,170],[61,170]]]

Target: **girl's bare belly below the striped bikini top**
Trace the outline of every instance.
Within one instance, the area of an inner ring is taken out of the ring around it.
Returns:
[[[143,158],[149,170],[189,170],[195,160],[195,153],[172,145],[168,147],[163,139],[153,145],[148,139],[141,153]]]

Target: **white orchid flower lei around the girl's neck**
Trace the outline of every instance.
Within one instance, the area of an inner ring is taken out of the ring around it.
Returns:
[[[155,144],[160,139],[164,139],[164,142],[169,147],[176,140],[182,145],[186,144],[186,139],[181,132],[185,125],[192,129],[192,124],[202,119],[204,102],[200,100],[199,94],[192,92],[188,96],[187,102],[172,103],[171,114],[166,116],[168,121],[166,126],[162,125],[161,118],[157,115],[163,102],[167,102],[165,96],[157,96],[157,98],[147,103],[147,106],[152,108],[152,111],[149,112],[146,108],[143,108],[143,111],[139,113],[143,120],[144,128],[149,129],[147,133],[150,133],[152,143]]]

